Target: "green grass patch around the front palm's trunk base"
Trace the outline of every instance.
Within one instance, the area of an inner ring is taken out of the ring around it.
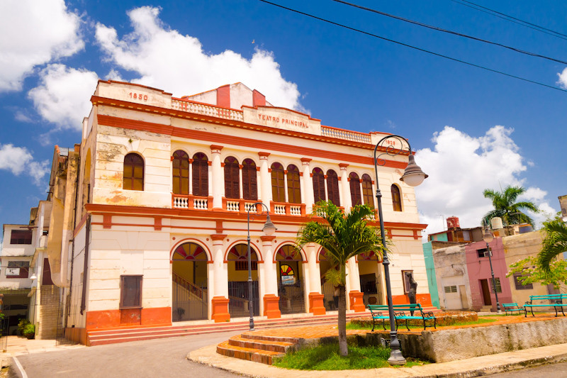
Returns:
[[[390,367],[388,358],[390,348],[349,345],[349,355],[339,355],[339,343],[317,345],[312,348],[288,352],[285,356],[275,359],[274,366],[286,369],[300,370],[349,370],[349,369],[375,369]],[[404,367],[424,365],[427,362],[407,359]]]

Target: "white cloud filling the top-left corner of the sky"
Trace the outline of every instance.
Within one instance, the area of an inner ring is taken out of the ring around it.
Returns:
[[[0,92],[21,90],[35,66],[84,47],[79,16],[63,0],[3,0],[0,14]]]

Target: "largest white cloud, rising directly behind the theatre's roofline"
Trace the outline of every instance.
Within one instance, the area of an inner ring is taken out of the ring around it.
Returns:
[[[140,74],[133,82],[175,96],[242,82],[262,92],[271,104],[301,110],[297,84],[281,77],[271,52],[256,48],[250,60],[231,50],[208,54],[197,38],[167,28],[158,15],[159,9],[150,6],[128,12],[133,32],[121,40],[114,28],[96,26],[96,40],[108,60]]]

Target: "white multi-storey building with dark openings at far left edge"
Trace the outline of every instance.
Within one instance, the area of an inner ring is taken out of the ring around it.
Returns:
[[[5,224],[3,227],[0,293],[4,294],[2,313],[8,317],[10,335],[16,332],[20,319],[28,318],[28,294],[32,286],[30,262],[35,252],[36,231],[30,225]]]

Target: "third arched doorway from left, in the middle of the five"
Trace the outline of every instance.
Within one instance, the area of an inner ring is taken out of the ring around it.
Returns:
[[[282,314],[305,312],[301,252],[293,245],[282,245],[275,260],[278,263],[279,311]]]

